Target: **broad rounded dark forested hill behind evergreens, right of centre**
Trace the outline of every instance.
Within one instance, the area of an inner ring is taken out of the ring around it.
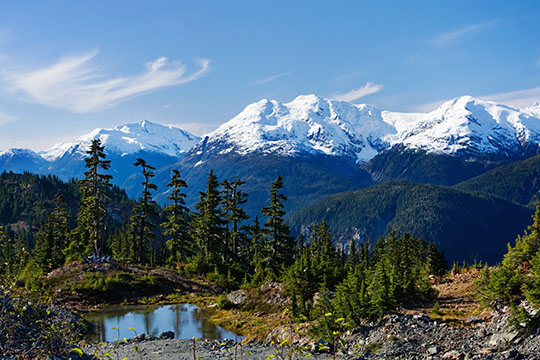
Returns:
[[[532,210],[452,188],[394,181],[328,197],[289,218],[296,234],[326,221],[339,242],[375,240],[391,229],[435,242],[450,261],[502,259],[506,244],[531,222]]]

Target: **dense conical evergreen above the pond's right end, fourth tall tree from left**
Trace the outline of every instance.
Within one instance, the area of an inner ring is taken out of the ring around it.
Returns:
[[[197,266],[201,270],[209,270],[209,266],[223,261],[224,220],[219,205],[221,196],[219,182],[214,171],[208,174],[206,191],[199,192],[199,202],[195,205],[197,213],[191,222],[192,237],[198,242],[200,253],[197,255]]]

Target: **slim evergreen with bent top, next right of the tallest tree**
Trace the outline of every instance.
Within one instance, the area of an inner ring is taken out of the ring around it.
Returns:
[[[145,263],[150,261],[153,263],[154,249],[153,240],[155,238],[155,225],[152,222],[152,218],[157,216],[156,202],[152,200],[152,190],[157,190],[157,186],[150,182],[150,178],[154,177],[152,170],[155,170],[152,166],[148,165],[145,160],[137,158],[134,166],[140,166],[142,168],[142,174],[144,181],[141,183],[143,186],[141,198],[137,205],[133,208],[133,215],[130,219],[130,233],[133,239],[134,259],[138,263]]]

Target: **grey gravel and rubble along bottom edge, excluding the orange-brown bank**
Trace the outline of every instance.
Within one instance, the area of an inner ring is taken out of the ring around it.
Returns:
[[[540,333],[522,335],[506,325],[508,314],[498,314],[490,320],[471,320],[466,327],[449,326],[431,320],[425,314],[389,314],[378,323],[363,326],[342,339],[345,346],[338,350],[339,359],[538,359]],[[284,332],[288,334],[288,332]],[[192,340],[138,338],[125,344],[109,343],[85,348],[87,354],[117,354],[128,359],[193,359]],[[331,359],[333,355],[317,351],[322,342],[294,342],[277,345],[251,341],[197,341],[197,359]]]

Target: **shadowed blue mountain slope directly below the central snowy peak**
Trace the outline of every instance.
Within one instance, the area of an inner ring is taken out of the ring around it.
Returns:
[[[200,161],[200,160],[199,160]],[[211,161],[198,163],[197,158],[186,157],[180,163],[156,173],[156,183],[169,181],[171,169],[180,170],[188,184],[187,203],[194,205],[199,200],[199,191],[204,191],[210,170],[222,180],[239,177],[246,184],[242,186],[249,194],[244,208],[253,218],[260,216],[260,210],[268,206],[271,183],[283,176],[283,193],[287,212],[302,208],[328,195],[361,189],[373,184],[367,172],[344,159],[327,156],[281,157],[272,154],[234,154],[213,156]],[[135,181],[135,180],[134,180]],[[165,202],[166,193],[156,197]]]

